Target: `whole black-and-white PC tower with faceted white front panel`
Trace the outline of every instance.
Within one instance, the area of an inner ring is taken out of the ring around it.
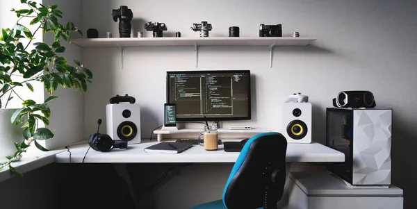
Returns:
[[[345,153],[327,170],[351,185],[391,185],[392,110],[327,108],[326,145]]]

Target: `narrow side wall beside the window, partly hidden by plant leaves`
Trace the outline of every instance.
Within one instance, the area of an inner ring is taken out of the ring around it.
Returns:
[[[70,21],[73,22],[75,26],[82,28],[83,22],[80,15],[82,10],[81,0],[43,0],[42,2],[44,5],[58,5],[58,9],[63,12],[63,18],[60,19],[61,24],[66,25],[67,22]],[[85,31],[83,32],[85,33]],[[85,33],[85,37],[86,36],[87,34]],[[81,36],[79,33],[72,33],[72,38],[76,37]],[[44,35],[44,42],[54,42],[52,33]],[[65,47],[65,52],[60,54],[60,56],[67,58],[68,64],[76,66],[73,60],[82,60],[81,48],[74,44],[68,44],[62,39],[61,45]],[[63,147],[73,142],[79,142],[79,140],[83,138],[84,132],[83,94],[76,91],[74,87],[72,89],[67,89],[58,85],[58,89],[54,92],[54,95],[59,98],[49,104],[49,107],[51,108],[51,118],[49,119],[48,128],[55,132],[53,139],[44,141],[47,149],[56,149],[57,147]],[[44,98],[47,99],[49,96],[49,93],[44,91]]]

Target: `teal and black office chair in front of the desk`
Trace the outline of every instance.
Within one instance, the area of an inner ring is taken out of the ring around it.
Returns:
[[[286,181],[286,149],[281,133],[250,137],[231,169],[223,198],[191,209],[277,209]]]

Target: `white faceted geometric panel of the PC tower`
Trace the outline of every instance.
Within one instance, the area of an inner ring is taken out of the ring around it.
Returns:
[[[392,110],[354,110],[353,185],[391,185]]]

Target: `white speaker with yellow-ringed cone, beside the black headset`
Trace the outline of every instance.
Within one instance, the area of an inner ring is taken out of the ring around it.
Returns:
[[[107,134],[113,140],[140,143],[140,106],[137,103],[106,105]]]

